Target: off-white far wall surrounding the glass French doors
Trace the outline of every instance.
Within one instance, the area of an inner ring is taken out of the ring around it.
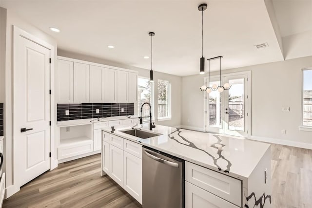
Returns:
[[[312,148],[312,132],[299,131],[301,125],[302,70],[312,67],[312,57],[260,64],[222,73],[251,71],[253,139]],[[216,72],[212,73],[215,75]],[[182,126],[202,129],[204,98],[199,90],[206,75],[182,77]],[[312,81],[312,80],[311,80]],[[290,107],[282,112],[281,107]],[[286,134],[281,134],[285,129]]]

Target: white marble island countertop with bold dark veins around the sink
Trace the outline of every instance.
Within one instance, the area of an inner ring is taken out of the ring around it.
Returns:
[[[147,139],[120,132],[129,129],[149,131],[149,123],[135,126],[121,125],[102,130],[242,180],[249,178],[258,162],[270,148],[270,144],[240,137],[160,125],[156,125],[152,132],[161,135]]]

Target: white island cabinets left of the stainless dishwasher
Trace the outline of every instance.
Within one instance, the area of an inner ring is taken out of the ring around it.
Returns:
[[[102,132],[102,170],[142,204],[142,150],[139,148],[142,149],[140,144]]]

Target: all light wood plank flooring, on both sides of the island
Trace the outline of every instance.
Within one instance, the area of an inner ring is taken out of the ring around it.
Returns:
[[[272,208],[312,208],[312,150],[272,144]],[[4,200],[3,208],[141,208],[108,176],[100,155],[59,164]]]

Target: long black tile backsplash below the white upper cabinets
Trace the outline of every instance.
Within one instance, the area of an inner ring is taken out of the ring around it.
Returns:
[[[123,108],[123,112],[121,112]],[[98,112],[97,113],[97,109]],[[65,111],[69,110],[69,115]],[[78,103],[58,104],[58,121],[68,121],[85,118],[111,117],[133,115],[134,103]]]

